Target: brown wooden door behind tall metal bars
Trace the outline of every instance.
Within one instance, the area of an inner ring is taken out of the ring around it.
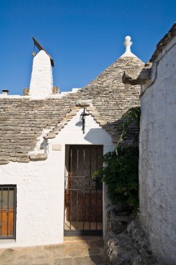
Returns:
[[[103,185],[91,178],[102,167],[102,156],[103,146],[70,146],[68,176],[65,178],[65,220],[70,227],[65,234],[102,232]]]

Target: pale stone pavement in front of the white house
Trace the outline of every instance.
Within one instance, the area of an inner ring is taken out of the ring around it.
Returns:
[[[0,250],[0,265],[103,265],[103,240],[65,241],[58,245]]]

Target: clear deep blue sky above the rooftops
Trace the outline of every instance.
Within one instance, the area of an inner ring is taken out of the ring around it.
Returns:
[[[22,94],[29,87],[34,44],[54,59],[54,85],[61,91],[89,84],[124,53],[146,62],[175,22],[176,1],[0,0],[0,90]]]

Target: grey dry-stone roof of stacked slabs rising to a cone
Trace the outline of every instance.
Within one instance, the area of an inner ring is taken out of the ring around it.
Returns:
[[[50,130],[45,139],[55,137],[79,109],[75,106],[76,100],[91,100],[92,106],[87,107],[87,111],[112,135],[112,141],[118,142],[122,114],[140,105],[140,86],[123,84],[122,75],[126,69],[143,65],[137,57],[120,57],[90,84],[62,98],[0,98],[0,165],[35,160],[29,152],[34,151],[43,128]],[[46,158],[41,156],[41,159]]]

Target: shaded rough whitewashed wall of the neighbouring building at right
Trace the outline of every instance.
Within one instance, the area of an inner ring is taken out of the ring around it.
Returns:
[[[176,264],[176,38],[156,60],[141,98],[140,214],[154,254]]]

